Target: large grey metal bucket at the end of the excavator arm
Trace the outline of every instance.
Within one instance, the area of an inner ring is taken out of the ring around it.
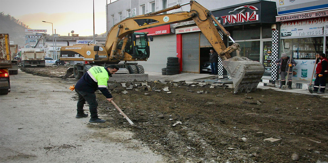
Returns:
[[[223,67],[231,75],[234,83],[234,93],[255,91],[260,82],[264,67],[261,63],[245,57],[232,57],[222,61]]]

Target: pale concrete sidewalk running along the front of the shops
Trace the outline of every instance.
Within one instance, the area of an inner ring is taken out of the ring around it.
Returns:
[[[186,82],[193,82],[194,80],[197,79],[215,79],[218,78],[217,75],[209,75],[209,74],[193,74],[193,73],[181,73],[177,75],[162,75],[160,72],[145,72],[145,74],[148,74],[149,80],[160,80],[160,81],[186,81]],[[230,88],[232,87],[231,84],[226,84]],[[276,91],[282,91],[282,92],[292,92],[292,93],[301,93],[301,94],[307,94],[307,95],[314,95],[314,96],[321,96],[322,98],[328,98],[328,92],[326,91],[325,94],[317,94],[313,93],[311,94],[309,90],[307,89],[298,89],[298,88],[293,88],[293,89],[286,89],[286,90],[281,90],[276,87],[271,87],[271,86],[262,86],[263,84],[259,84],[257,88],[261,89],[274,89]]]

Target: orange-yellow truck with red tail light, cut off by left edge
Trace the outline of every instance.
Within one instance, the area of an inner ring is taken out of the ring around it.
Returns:
[[[0,94],[7,95],[10,92],[9,68],[11,56],[9,47],[9,34],[0,34]]]

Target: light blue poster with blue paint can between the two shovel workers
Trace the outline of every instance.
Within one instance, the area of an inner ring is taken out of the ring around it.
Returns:
[[[316,60],[295,60],[297,65],[293,67],[293,80],[311,81]],[[316,73],[316,72],[314,72]],[[313,75],[312,81],[316,79],[316,74]]]

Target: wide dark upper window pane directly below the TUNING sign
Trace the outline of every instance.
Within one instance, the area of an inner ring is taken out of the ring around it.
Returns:
[[[260,39],[260,29],[234,30],[232,36],[234,40]]]

